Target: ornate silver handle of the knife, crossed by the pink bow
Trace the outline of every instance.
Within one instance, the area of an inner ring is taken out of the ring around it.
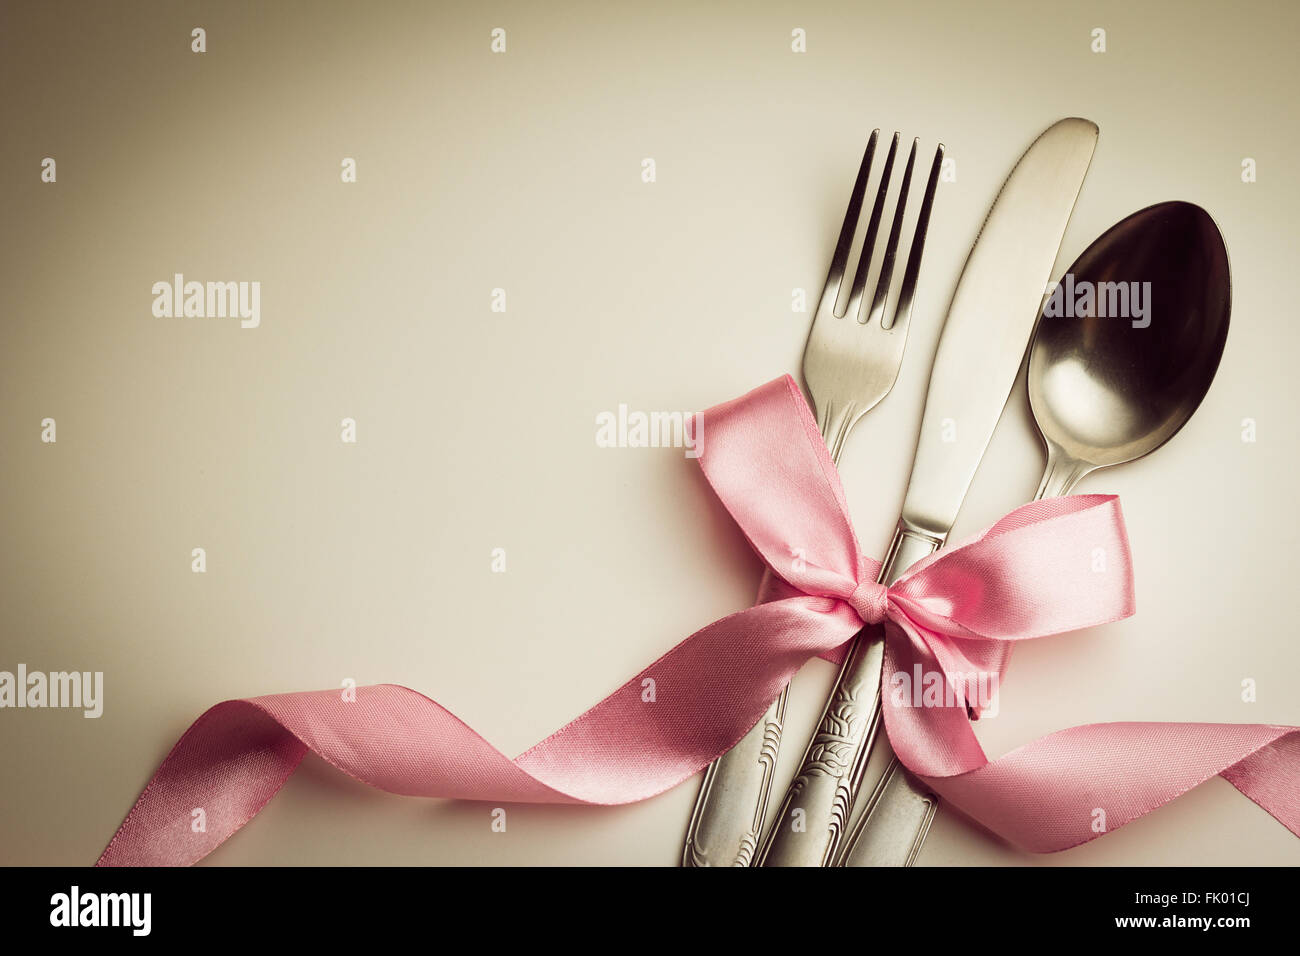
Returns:
[[[942,540],[900,523],[879,580],[893,584],[932,554]],[[846,835],[854,793],[880,726],[880,670],[884,628],[864,628],[853,639],[816,735],[785,792],[760,866],[828,866]]]

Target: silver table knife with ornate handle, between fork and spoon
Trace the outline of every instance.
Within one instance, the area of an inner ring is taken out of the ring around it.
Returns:
[[[1066,224],[1097,146],[1071,117],[1020,156],[975,237],[935,351],[911,479],[879,580],[941,548],[1002,415]],[[827,866],[844,840],[880,726],[884,630],[853,640],[759,855],[762,866]],[[910,834],[909,834],[910,836]]]

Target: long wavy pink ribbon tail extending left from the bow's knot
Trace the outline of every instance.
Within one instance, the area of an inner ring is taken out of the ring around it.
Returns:
[[[410,796],[645,800],[731,749],[809,658],[859,627],[842,602],[807,596],[723,618],[516,760],[396,684],[356,688],[355,700],[333,689],[225,701],[166,756],[99,865],[198,862],[266,805],[307,750]]]

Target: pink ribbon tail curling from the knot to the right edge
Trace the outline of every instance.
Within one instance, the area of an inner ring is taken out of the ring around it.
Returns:
[[[909,611],[890,622],[885,645],[889,743],[904,766],[998,836],[1037,853],[1067,849],[1118,830],[1216,775],[1300,836],[1300,728],[1093,723],[989,761],[967,718],[967,698],[950,693],[961,688],[956,671],[971,662],[966,652],[980,652],[979,641],[930,630],[916,620],[931,623],[923,613]],[[991,659],[975,657],[983,665]],[[988,676],[1001,672],[1001,662],[993,663],[998,666]],[[923,676],[932,696],[918,689]]]

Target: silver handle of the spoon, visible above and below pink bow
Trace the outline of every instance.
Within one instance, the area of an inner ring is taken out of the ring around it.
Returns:
[[[1069,494],[1092,468],[1070,458],[1056,445],[1048,445],[1048,464],[1034,501]],[[876,747],[888,749],[887,735],[881,735]],[[911,866],[937,810],[939,797],[889,752],[889,766],[849,834],[837,865]]]

